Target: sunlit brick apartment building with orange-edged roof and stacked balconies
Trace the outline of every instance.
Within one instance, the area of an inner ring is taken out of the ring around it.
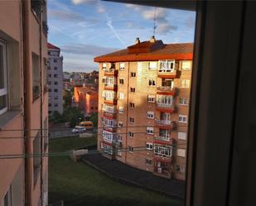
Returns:
[[[98,150],[162,177],[185,180],[193,44],[150,41],[99,62]]]

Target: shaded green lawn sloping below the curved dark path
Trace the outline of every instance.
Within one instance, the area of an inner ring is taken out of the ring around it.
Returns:
[[[93,145],[94,138],[60,138],[50,141],[50,152]],[[49,158],[49,204],[63,199],[65,206],[181,205],[145,189],[120,184],[82,162],[69,157]]]

